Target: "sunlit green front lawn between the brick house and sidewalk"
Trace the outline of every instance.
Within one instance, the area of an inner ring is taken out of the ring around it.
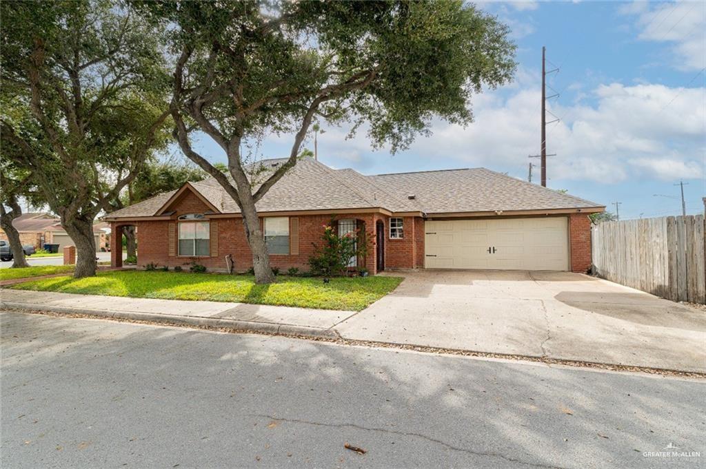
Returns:
[[[112,271],[84,279],[61,276],[28,281],[11,288],[360,311],[393,291],[400,281],[400,277],[390,276],[341,277],[324,284],[317,278],[277,276],[274,284],[257,285],[251,275]]]

